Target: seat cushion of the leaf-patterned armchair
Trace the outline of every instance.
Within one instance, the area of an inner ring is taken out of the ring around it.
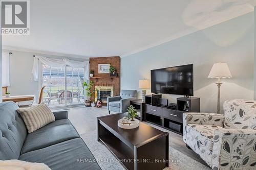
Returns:
[[[210,126],[210,125],[187,125],[187,135],[196,139],[200,144],[204,145],[207,149],[212,151],[214,145],[213,138],[215,130],[219,130],[222,127]]]

